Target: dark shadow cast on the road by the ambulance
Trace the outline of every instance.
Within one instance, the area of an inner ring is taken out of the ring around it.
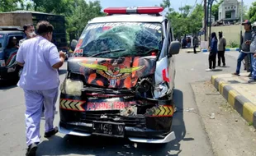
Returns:
[[[178,155],[181,152],[180,141],[190,141],[185,138],[186,128],[183,121],[183,92],[174,91],[174,103],[178,111],[173,116],[173,131],[176,140],[165,145],[138,144],[127,139],[116,139],[102,136],[79,137],[65,135],[64,138],[54,136],[40,143],[37,155]]]

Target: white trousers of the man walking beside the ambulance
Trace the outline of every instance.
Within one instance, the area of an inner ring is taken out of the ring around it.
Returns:
[[[54,129],[55,103],[59,88],[47,90],[26,90],[26,145],[40,142],[40,117],[45,107],[45,132]]]

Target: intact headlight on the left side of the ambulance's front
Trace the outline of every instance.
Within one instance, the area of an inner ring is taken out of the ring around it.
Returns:
[[[60,85],[61,93],[69,94],[73,96],[81,96],[83,89],[83,81],[81,80],[64,80],[63,84]]]

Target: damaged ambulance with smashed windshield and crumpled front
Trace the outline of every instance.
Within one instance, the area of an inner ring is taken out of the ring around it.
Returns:
[[[71,47],[60,86],[59,132],[168,143],[174,55],[181,44],[162,7],[110,7],[88,22]]]

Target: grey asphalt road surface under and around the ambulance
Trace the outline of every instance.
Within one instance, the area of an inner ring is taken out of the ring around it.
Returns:
[[[210,80],[214,74],[234,72],[236,61],[234,57],[227,56],[227,67],[206,72],[207,57],[204,53],[193,54],[183,51],[176,56],[174,103],[178,107],[178,112],[174,115],[173,131],[177,139],[168,145],[141,145],[129,140],[58,134],[50,140],[42,137],[37,155],[213,155],[211,141],[206,135],[201,117],[186,112],[187,108],[197,108],[190,83]],[[64,80],[65,67],[66,64],[60,69],[61,81]],[[26,153],[23,96],[22,89],[17,88],[15,84],[4,84],[0,87],[0,155],[21,156]],[[59,103],[57,105],[59,106]],[[58,122],[59,113],[56,113],[56,126]],[[40,134],[44,134],[44,118],[41,120]]]

